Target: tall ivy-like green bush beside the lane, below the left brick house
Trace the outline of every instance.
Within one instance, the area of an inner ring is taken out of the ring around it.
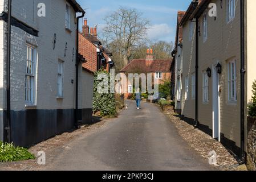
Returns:
[[[116,115],[116,100],[115,94],[110,93],[110,88],[108,88],[108,93],[97,92],[97,86],[102,82],[102,80],[97,80],[99,74],[105,74],[108,76],[108,85],[110,85],[110,74],[104,70],[99,70],[95,73],[94,77],[94,99],[92,101],[92,111],[94,113],[99,113],[101,117],[114,117]],[[109,87],[109,86],[108,86]]]

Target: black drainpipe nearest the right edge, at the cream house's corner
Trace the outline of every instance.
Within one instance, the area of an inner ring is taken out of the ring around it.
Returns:
[[[240,164],[245,163],[245,3],[240,0],[241,12],[241,151]]]

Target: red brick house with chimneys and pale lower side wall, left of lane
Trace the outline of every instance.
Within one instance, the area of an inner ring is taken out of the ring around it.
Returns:
[[[94,73],[101,67],[106,71],[113,66],[112,53],[104,48],[97,39],[97,28],[89,32],[87,19],[84,20],[83,31],[79,33],[79,55],[86,61],[79,70],[79,120],[83,123],[92,121],[92,100],[94,90]]]

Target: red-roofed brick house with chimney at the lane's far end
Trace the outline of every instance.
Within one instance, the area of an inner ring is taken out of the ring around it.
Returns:
[[[165,81],[170,81],[171,64],[172,59],[153,59],[153,50],[148,49],[146,59],[132,60],[127,66],[121,69],[120,73],[123,73],[123,76],[129,73],[152,73],[152,75],[159,80],[159,84],[163,84]],[[121,90],[125,93],[125,98],[129,98],[132,84],[127,80],[127,84],[123,85],[125,85],[125,88],[121,88]]]

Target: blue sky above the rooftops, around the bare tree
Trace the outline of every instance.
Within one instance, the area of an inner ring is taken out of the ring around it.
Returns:
[[[135,8],[143,13],[143,18],[150,20],[151,28],[148,38],[152,41],[174,41],[177,21],[177,11],[186,10],[191,0],[77,0],[86,9],[85,18],[90,27],[98,24],[104,27],[104,17],[120,6]]]

